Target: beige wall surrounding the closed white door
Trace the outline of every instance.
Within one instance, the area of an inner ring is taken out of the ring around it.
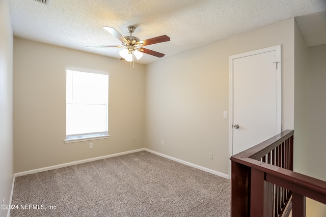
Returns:
[[[147,65],[146,147],[228,174],[229,119],[223,118],[223,111],[229,111],[229,56],[279,44],[282,129],[293,129],[291,18]]]

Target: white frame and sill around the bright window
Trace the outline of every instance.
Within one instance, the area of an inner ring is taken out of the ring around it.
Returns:
[[[89,70],[89,69],[80,69],[80,68],[74,68],[74,67],[68,67],[66,68],[66,96],[67,96],[67,71],[77,71],[77,72],[84,72],[84,73],[93,73],[93,74],[102,74],[107,75],[107,86],[109,82],[109,73],[104,71],[96,71],[96,70]],[[108,97],[108,95],[107,95]],[[72,143],[72,142],[80,142],[80,141],[90,141],[90,140],[97,140],[97,139],[106,139],[110,138],[110,134],[108,134],[108,99],[107,99],[107,133],[106,132],[97,132],[94,134],[90,133],[81,133],[81,134],[74,134],[74,135],[67,135],[67,98],[66,98],[66,139],[64,140],[64,143]]]

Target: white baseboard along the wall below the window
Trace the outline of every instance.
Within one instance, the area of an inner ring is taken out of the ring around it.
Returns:
[[[106,158],[112,158],[112,157],[121,156],[121,155],[128,154],[128,153],[143,151],[143,150],[145,150],[145,148],[135,149],[135,150],[131,150],[131,151],[124,151],[124,152],[114,153],[114,154],[108,154],[106,156],[89,158],[89,159],[74,161],[74,162],[65,163],[65,164],[58,164],[58,165],[43,167],[43,168],[39,168],[39,169],[35,169],[35,170],[28,170],[28,171],[24,171],[24,172],[15,173],[14,176],[18,177],[18,176],[22,176],[22,175],[29,175],[29,174],[33,174],[33,173],[44,172],[47,170],[54,170],[54,169],[58,169],[58,168],[62,168],[62,167],[68,167],[68,166],[72,166],[72,165],[76,165],[76,164],[83,164],[86,162],[97,161],[97,160],[102,160],[102,159],[106,159]]]

